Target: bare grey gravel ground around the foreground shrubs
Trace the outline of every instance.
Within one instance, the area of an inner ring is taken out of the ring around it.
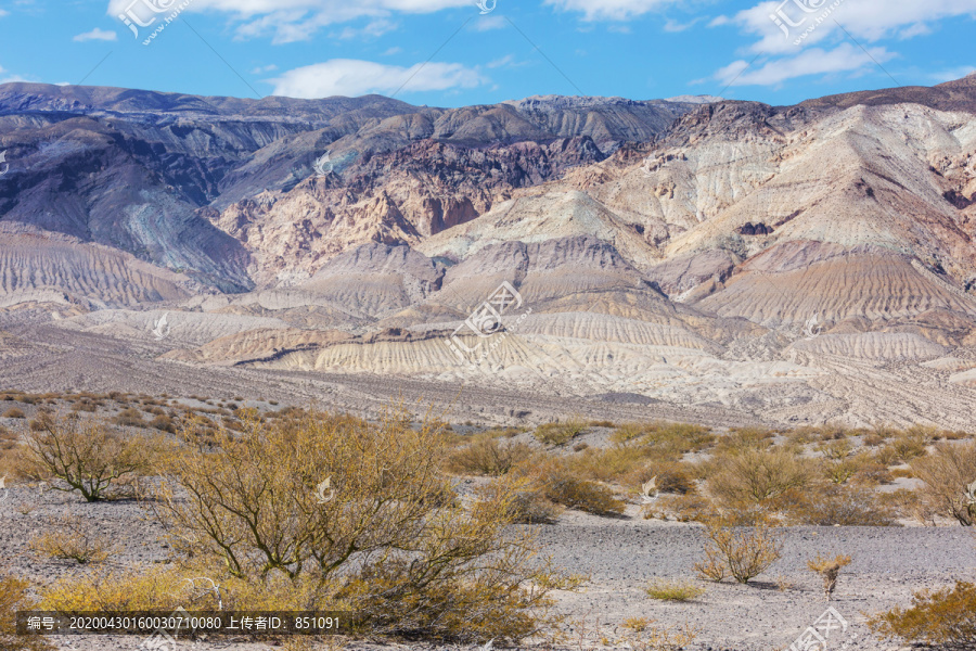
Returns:
[[[646,597],[643,588],[655,577],[694,579],[692,564],[701,557],[702,527],[645,521],[635,511],[632,507],[629,518],[614,520],[567,512],[556,525],[534,527],[543,551],[558,565],[590,575],[581,591],[556,595],[557,610],[568,615],[565,633],[574,640],[568,648],[601,648],[604,639],[621,639],[627,633],[621,626],[625,620],[646,617],[658,626],[689,624],[697,629],[691,649],[785,649],[827,608],[819,578],[806,569],[806,562],[819,552],[853,557],[831,604],[849,628],[843,636],[835,631],[829,648],[896,649],[871,638],[864,625],[866,614],[908,604],[912,591],[920,588],[948,585],[956,578],[976,580],[976,539],[961,527],[791,527],[781,529],[783,558],[753,584],[701,583],[707,592],[695,601],[659,602]],[[146,520],[133,501],[87,505],[73,495],[13,486],[0,502],[0,558],[16,574],[37,582],[77,572],[68,563],[35,559],[26,547],[47,523],[64,514],[91,519],[123,547],[113,560],[116,564],[145,566],[167,557],[158,525]],[[142,642],[136,637],[61,637],[56,641],[61,649],[78,651],[138,649]],[[180,648],[256,651],[275,647],[231,640],[182,642]],[[358,643],[348,648],[410,647]]]

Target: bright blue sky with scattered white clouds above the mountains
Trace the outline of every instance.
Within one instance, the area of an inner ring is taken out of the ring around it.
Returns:
[[[976,69],[976,0],[480,1],[0,0],[0,81],[438,106],[534,94],[792,104]]]

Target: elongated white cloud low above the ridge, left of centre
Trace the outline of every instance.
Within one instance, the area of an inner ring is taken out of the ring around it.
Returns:
[[[269,79],[273,94],[290,98],[359,97],[424,90],[475,88],[488,81],[478,71],[460,63],[427,63],[408,67],[372,61],[333,59]]]

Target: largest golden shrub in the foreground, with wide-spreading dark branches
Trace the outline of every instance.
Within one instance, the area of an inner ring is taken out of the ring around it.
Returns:
[[[561,578],[534,558],[532,534],[511,528],[517,486],[452,499],[435,427],[401,411],[244,424],[215,446],[191,425],[165,460],[154,507],[178,550],[237,582],[280,585],[282,599],[309,595],[291,610],[322,610],[316,596],[333,595],[369,635],[517,639],[541,625]]]

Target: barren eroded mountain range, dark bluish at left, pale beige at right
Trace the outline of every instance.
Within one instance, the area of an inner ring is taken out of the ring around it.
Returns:
[[[771,424],[972,423],[976,76],[795,106],[7,84],[0,151],[12,331]]]

